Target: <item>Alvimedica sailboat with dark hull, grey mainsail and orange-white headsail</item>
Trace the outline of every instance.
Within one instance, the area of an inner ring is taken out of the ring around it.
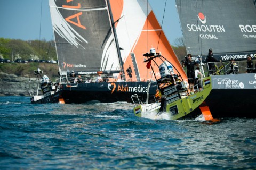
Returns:
[[[146,69],[142,56],[153,46],[186,77],[147,0],[49,0],[49,5],[63,103],[132,102],[131,95],[145,100],[147,92],[153,102],[160,74]],[[102,82],[95,82],[98,74]]]

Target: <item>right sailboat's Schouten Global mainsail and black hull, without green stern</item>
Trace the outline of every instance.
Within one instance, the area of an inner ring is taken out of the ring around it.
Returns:
[[[216,62],[212,91],[205,103],[213,117],[255,118],[256,74],[246,74],[247,55],[256,57],[254,0],[175,0],[187,53],[205,61],[209,49]],[[228,74],[230,60],[238,74]],[[207,64],[205,64],[207,68]],[[220,69],[222,67],[222,69]],[[208,69],[211,70],[211,69]]]

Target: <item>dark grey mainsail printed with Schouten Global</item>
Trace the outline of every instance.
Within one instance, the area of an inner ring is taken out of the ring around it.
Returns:
[[[187,53],[219,60],[256,58],[254,0],[175,0]]]

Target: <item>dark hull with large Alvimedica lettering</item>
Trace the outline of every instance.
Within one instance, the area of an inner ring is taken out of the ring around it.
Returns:
[[[146,100],[148,82],[101,82],[101,83],[78,83],[63,84],[62,97],[65,103],[86,103],[87,101],[98,100],[102,103],[116,101],[127,101],[132,103],[131,95],[138,94]],[[149,95],[152,101],[156,94],[156,83],[151,83]]]

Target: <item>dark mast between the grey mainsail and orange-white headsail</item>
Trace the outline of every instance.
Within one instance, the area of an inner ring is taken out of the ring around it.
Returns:
[[[117,34],[116,34],[116,28],[115,28],[115,23],[118,22],[119,19],[116,22],[114,22],[109,0],[106,0],[106,1],[108,3],[108,12],[109,12],[109,15],[110,15],[111,25],[112,25],[112,29],[113,29],[113,33],[114,33],[114,37],[115,37],[115,41],[116,41],[116,49],[117,49],[117,54],[118,54],[119,63],[120,63],[120,67],[121,67],[121,72],[124,75],[124,62],[122,60],[122,56],[121,56],[121,53],[120,53],[120,47],[119,47]],[[124,80],[125,80],[125,76],[124,76]]]

